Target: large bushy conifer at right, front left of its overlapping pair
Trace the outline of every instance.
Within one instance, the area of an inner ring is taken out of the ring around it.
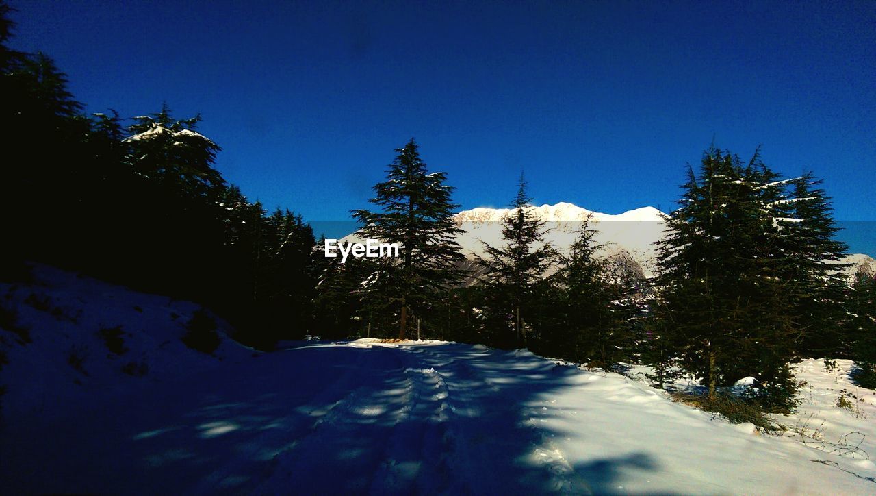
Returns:
[[[775,174],[756,153],[747,166],[711,149],[700,174],[689,169],[681,208],[668,216],[659,244],[661,338],[682,365],[718,386],[752,375],[765,401],[788,407],[794,384],[788,361],[795,329],[777,251]]]

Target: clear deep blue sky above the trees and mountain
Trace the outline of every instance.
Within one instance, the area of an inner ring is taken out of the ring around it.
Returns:
[[[876,221],[873,1],[10,4],[88,110],[201,112],[225,178],[307,220],[364,207],[411,137],[463,209],[522,169],[537,203],[668,210],[714,137]]]

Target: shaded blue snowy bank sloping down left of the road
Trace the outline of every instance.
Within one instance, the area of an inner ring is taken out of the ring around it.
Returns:
[[[95,395],[166,384],[180,373],[208,370],[225,361],[249,358],[252,351],[225,337],[230,326],[214,316],[221,344],[213,355],[194,351],[180,340],[200,307],[166,296],[34,265],[28,284],[0,283],[0,304],[14,308],[18,326],[28,329],[23,343],[0,329],[0,396],[4,419],[64,415],[65,408]],[[101,329],[118,329],[121,354],[109,350]],[[81,357],[79,370],[71,354]],[[123,368],[129,367],[126,373]],[[140,373],[145,372],[145,373]]]

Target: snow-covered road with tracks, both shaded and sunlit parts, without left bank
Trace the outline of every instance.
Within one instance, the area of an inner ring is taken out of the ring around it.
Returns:
[[[0,442],[16,493],[876,490],[870,460],[713,421],[616,374],[465,344],[281,351],[13,423]]]

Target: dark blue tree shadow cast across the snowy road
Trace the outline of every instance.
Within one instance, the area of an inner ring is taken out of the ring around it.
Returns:
[[[305,346],[6,429],[0,477],[14,492],[623,492],[651,457],[569,466],[550,443],[568,433],[541,422],[579,373],[464,344]]]

